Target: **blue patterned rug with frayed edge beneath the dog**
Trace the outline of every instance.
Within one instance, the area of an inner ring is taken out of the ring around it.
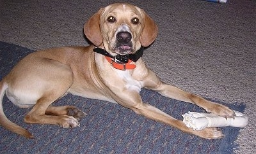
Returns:
[[[25,55],[28,48],[0,42],[0,78]],[[203,112],[193,104],[163,97],[150,90],[141,90],[144,102],[182,120],[188,111]],[[225,104],[224,102],[220,102]],[[29,109],[14,106],[3,99],[8,118],[31,132],[35,139],[25,139],[0,127],[1,153],[234,153],[238,128],[223,127],[223,139],[207,140],[136,115],[118,104],[66,95],[54,102],[61,106],[73,104],[88,115],[81,127],[63,129],[55,125],[28,125],[23,122]],[[243,112],[244,104],[225,104]]]

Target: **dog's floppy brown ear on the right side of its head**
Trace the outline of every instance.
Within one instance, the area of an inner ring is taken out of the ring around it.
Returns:
[[[145,11],[141,10],[145,19],[145,25],[140,36],[140,43],[142,46],[147,47],[153,43],[157,37],[158,27],[154,20],[150,18]]]

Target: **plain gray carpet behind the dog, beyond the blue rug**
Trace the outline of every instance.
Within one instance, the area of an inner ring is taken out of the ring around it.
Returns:
[[[83,25],[114,1],[0,0],[0,41],[32,50],[88,45]],[[249,124],[237,153],[256,153],[256,3],[228,1],[127,1],[159,25],[143,59],[159,77],[203,97],[246,104]]]

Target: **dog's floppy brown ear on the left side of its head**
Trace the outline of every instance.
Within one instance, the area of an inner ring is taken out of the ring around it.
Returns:
[[[95,13],[84,25],[84,34],[93,45],[100,46],[103,42],[102,34],[100,32],[100,13],[103,8]]]

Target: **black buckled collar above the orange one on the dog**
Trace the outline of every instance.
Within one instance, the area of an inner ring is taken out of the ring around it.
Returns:
[[[121,62],[123,64],[128,63],[129,59],[132,60],[133,62],[136,62],[137,60],[139,60],[142,57],[143,51],[144,51],[144,47],[141,46],[141,48],[136,53],[127,54],[127,55],[119,55],[118,54],[115,57],[113,57],[106,50],[104,50],[102,48],[98,48],[98,47],[93,48],[93,52],[97,52],[97,53],[100,53],[107,57],[111,57],[111,58],[115,59],[115,61]]]

